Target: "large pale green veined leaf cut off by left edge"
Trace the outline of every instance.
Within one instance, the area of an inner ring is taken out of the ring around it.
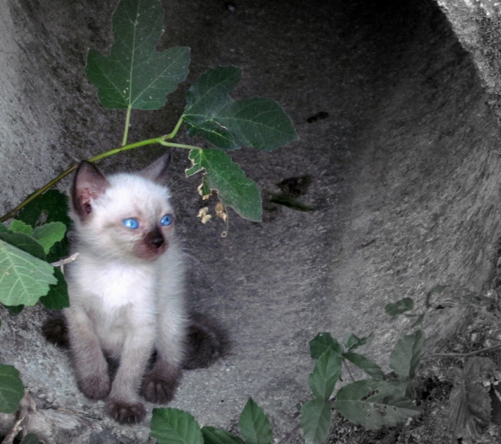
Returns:
[[[0,233],[2,234],[2,233]],[[16,233],[21,234],[21,233]],[[26,235],[24,235],[26,236]],[[57,282],[54,268],[19,248],[0,240],[0,302],[34,305]]]

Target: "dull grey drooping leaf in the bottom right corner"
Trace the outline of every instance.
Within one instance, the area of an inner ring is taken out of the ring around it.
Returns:
[[[479,427],[491,421],[491,397],[479,381],[483,381],[495,365],[488,358],[470,359],[464,370],[456,369],[456,382],[449,397],[447,420],[458,437],[475,439]]]

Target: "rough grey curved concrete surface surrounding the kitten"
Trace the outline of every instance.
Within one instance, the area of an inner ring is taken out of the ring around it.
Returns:
[[[495,117],[470,57],[431,1],[164,6],[160,49],[192,48],[182,90],[209,67],[239,65],[244,79],[235,97],[276,99],[301,138],[271,154],[242,149],[232,158],[262,190],[309,176],[299,199],[315,211],[264,195],[264,222],[232,213],[227,238],[222,222],[197,220],[200,177],[183,179],[186,152],[173,151],[179,233],[192,258],[190,304],[222,320],[234,351],[208,370],[186,372],[172,405],[202,425],[231,428],[252,396],[279,438],[310,398],[308,341],[317,332],[340,339],[374,332],[369,354],[388,368],[404,327],[388,322],[386,303],[413,297],[422,309],[437,283],[485,287],[499,235]],[[101,108],[83,74],[86,49],[109,47],[113,8],[92,0],[0,4],[4,209],[75,159],[119,144],[122,113]],[[181,91],[157,113],[133,113],[130,140],[167,133],[183,106]],[[319,112],[328,117],[308,123]],[[143,167],[161,152],[115,156],[102,167]],[[100,442],[148,441],[147,425],[118,427],[103,417],[103,402],[78,392],[67,355],[40,336],[45,313],[2,310],[0,318],[0,360],[21,371],[39,409],[84,414],[86,424],[97,424],[89,436],[108,430],[109,441],[100,434]],[[461,329],[461,320],[459,309],[431,311],[430,347]],[[53,438],[77,443],[81,427]]]

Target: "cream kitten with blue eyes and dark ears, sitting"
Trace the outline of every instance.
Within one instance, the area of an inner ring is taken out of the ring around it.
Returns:
[[[108,177],[79,165],[70,196],[79,252],[66,273],[70,307],[44,327],[52,342],[64,345],[67,335],[80,390],[107,399],[106,413],[122,423],[145,416],[139,393],[169,402],[183,367],[207,366],[228,348],[217,324],[186,314],[185,260],[161,185],[169,162],[167,155],[137,174]]]

